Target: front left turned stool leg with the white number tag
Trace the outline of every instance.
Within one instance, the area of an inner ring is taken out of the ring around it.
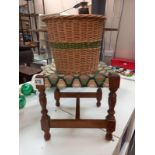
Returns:
[[[44,78],[41,75],[38,75],[36,77],[39,82],[39,84],[36,84],[36,87],[39,91],[39,101],[41,105],[41,128],[44,131],[44,139],[49,140],[50,139],[50,116],[48,115],[48,110],[46,109],[46,94],[45,94],[45,85],[44,85]]]

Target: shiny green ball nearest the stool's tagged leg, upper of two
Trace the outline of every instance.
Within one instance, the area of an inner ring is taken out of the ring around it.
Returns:
[[[35,93],[33,87],[29,83],[25,83],[21,87],[21,93],[25,96],[30,95],[31,93]]]

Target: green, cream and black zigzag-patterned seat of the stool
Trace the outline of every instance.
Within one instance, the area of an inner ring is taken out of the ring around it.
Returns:
[[[108,74],[113,72],[105,63],[100,62],[95,74],[63,75],[56,71],[55,64],[42,67],[45,87],[108,87]]]

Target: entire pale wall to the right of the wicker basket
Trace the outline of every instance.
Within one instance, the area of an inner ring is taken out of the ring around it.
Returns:
[[[124,1],[124,6],[123,6]],[[121,15],[121,10],[123,12]],[[121,58],[135,58],[135,0],[107,0],[106,27],[119,28],[118,32],[105,32],[105,55],[114,52]],[[118,34],[117,46],[116,39]]]

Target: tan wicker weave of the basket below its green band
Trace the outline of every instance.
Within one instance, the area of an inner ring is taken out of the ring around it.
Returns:
[[[99,57],[99,49],[82,49],[82,51],[83,54],[81,54],[81,49],[54,50],[53,57],[57,62],[57,70],[62,74],[94,73],[98,65],[96,57]]]

